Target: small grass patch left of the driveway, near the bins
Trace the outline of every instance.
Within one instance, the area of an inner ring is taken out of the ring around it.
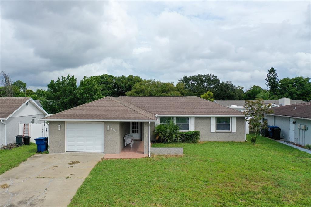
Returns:
[[[37,145],[23,145],[12,150],[0,150],[0,174],[18,166],[26,159],[36,154]]]

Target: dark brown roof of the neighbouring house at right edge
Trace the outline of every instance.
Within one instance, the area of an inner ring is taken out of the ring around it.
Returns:
[[[311,118],[311,102],[275,107],[273,111],[272,115]]]

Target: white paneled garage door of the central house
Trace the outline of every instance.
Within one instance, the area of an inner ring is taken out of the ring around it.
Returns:
[[[104,122],[66,122],[66,152],[104,152]]]

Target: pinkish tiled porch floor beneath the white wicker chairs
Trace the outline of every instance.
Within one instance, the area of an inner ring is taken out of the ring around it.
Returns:
[[[147,157],[148,154],[144,154],[144,142],[134,141],[132,148],[130,145],[121,150],[120,154],[105,154],[105,159],[131,159],[131,158],[142,158]]]

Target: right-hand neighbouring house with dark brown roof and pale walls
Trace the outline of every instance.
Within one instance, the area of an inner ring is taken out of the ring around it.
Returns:
[[[311,145],[311,102],[273,108],[264,121],[281,128],[281,138],[305,146]]]

